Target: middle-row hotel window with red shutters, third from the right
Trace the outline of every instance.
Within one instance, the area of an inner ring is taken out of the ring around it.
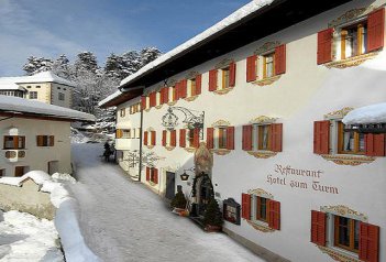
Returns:
[[[216,127],[207,129],[208,149],[234,150],[234,127]]]

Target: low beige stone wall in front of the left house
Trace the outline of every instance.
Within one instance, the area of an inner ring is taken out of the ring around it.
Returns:
[[[40,192],[40,188],[31,178],[25,179],[22,186],[0,184],[0,209],[19,210],[52,220],[55,207],[49,200],[49,193]]]

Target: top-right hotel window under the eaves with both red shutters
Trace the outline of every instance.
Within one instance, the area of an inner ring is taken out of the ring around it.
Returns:
[[[333,57],[345,59],[383,48],[384,8],[355,19],[352,24],[337,25],[318,33],[318,65],[331,62]],[[338,39],[334,39],[334,31]]]

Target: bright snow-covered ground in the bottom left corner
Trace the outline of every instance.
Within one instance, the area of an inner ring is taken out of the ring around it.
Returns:
[[[0,261],[62,262],[58,236],[53,221],[19,211],[1,214]]]

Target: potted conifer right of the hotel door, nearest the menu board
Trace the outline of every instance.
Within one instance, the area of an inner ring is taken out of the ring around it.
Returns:
[[[208,232],[221,231],[223,223],[222,214],[220,207],[214,197],[211,197],[207,206],[207,210],[203,214],[205,230]]]

